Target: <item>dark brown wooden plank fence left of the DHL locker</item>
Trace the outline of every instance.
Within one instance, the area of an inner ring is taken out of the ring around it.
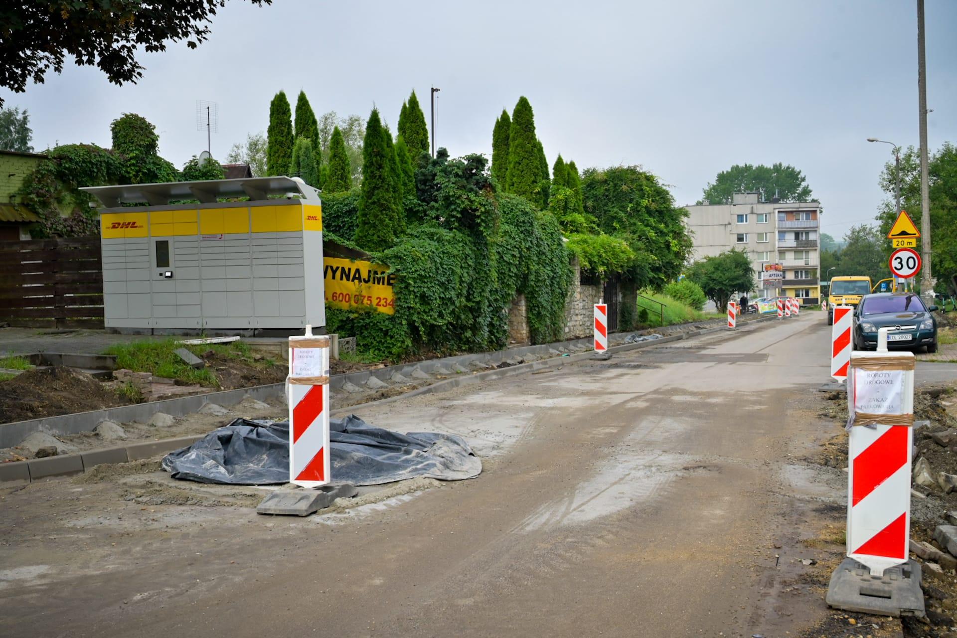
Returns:
[[[0,242],[0,324],[102,328],[100,237]]]

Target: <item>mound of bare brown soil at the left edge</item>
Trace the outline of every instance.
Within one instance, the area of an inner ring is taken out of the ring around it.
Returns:
[[[33,368],[0,383],[0,423],[128,404],[90,375],[68,367]]]

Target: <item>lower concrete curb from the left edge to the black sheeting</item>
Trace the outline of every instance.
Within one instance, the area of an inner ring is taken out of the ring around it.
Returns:
[[[205,434],[181,436],[175,439],[134,443],[125,448],[107,448],[78,454],[34,458],[29,461],[0,463],[0,484],[7,487],[16,483],[31,483],[48,476],[66,476],[89,472],[94,467],[104,463],[125,463],[150,458],[157,454],[185,448],[203,438],[203,436]]]

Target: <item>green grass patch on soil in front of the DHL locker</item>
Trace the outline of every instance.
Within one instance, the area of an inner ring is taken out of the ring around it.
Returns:
[[[256,361],[249,344],[242,341],[230,343],[203,343],[200,345],[183,345],[175,339],[133,341],[131,343],[117,343],[103,351],[103,354],[114,355],[117,358],[117,367],[132,370],[133,372],[150,372],[155,377],[163,379],[177,379],[188,384],[219,387],[219,380],[209,367],[196,369],[189,367],[173,352],[185,347],[189,352],[202,357],[210,350],[216,355],[228,359],[235,359],[255,367],[270,367],[276,362],[272,359]]]

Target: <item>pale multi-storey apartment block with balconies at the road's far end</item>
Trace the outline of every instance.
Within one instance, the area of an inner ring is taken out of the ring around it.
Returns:
[[[754,268],[754,297],[797,297],[820,301],[819,202],[761,201],[760,193],[735,193],[731,204],[685,207],[685,224],[693,233],[693,259],[744,250]],[[775,266],[775,264],[777,266]],[[783,279],[765,280],[767,270]],[[772,282],[773,281],[773,282]]]

